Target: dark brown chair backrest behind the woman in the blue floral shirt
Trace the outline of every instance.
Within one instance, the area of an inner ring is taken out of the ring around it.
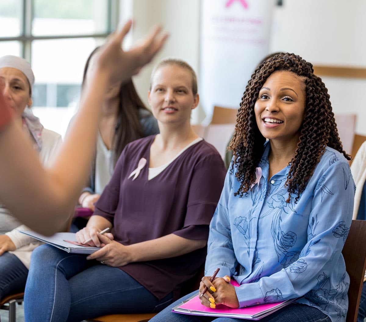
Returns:
[[[346,270],[350,276],[348,313],[346,322],[356,322],[366,268],[366,220],[352,220],[350,232],[343,247]]]

